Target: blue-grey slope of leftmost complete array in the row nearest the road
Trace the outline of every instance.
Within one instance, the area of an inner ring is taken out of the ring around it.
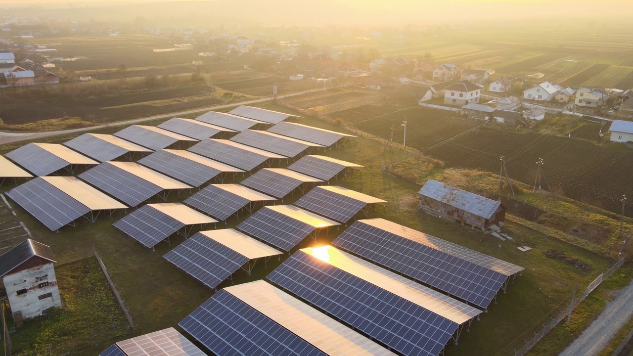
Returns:
[[[70,165],[70,163],[34,143],[16,148],[7,153],[6,156],[37,176],[49,175]]]

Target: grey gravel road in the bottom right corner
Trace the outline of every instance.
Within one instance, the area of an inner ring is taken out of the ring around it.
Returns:
[[[633,315],[633,281],[559,356],[598,355]],[[573,317],[573,315],[572,315]]]

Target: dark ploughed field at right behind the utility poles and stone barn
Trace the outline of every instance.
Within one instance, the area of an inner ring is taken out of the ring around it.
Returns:
[[[534,141],[538,139],[539,141]],[[536,142],[536,144],[534,144]],[[530,145],[522,153],[513,153]],[[558,194],[611,212],[622,208],[620,197],[633,190],[633,153],[610,151],[592,143],[556,136],[515,134],[497,130],[472,130],[428,151],[448,167],[499,172],[499,156],[508,157],[506,167],[512,179],[533,184],[536,160],[544,159],[544,172]],[[610,174],[620,172],[621,174]],[[632,211],[626,212],[633,216]]]

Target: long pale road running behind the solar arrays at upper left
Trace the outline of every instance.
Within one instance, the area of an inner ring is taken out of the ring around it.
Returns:
[[[297,95],[308,94],[310,92],[318,92],[318,91],[323,91],[323,89],[311,89],[311,90],[306,90],[306,91],[293,92],[291,94],[287,94],[286,96],[297,96]],[[192,113],[199,113],[199,112],[210,111],[210,110],[225,109],[225,108],[230,108],[230,107],[239,106],[239,105],[250,105],[250,104],[256,104],[256,103],[264,103],[265,101],[270,101],[270,98],[253,99],[253,100],[248,100],[248,101],[240,101],[239,103],[230,103],[230,104],[223,104],[223,105],[208,106],[206,108],[198,108],[198,109],[194,109],[194,110],[179,111],[177,113],[167,113],[167,114],[161,114],[161,115],[154,115],[154,116],[151,116],[151,117],[135,118],[134,120],[113,122],[112,124],[108,124],[108,125],[97,125],[97,126],[91,126],[91,127],[82,127],[80,129],[69,129],[69,130],[58,130],[58,131],[42,131],[42,132],[2,132],[2,131],[0,131],[0,144],[14,143],[14,142],[20,142],[20,141],[32,141],[32,140],[39,139],[39,138],[42,138],[42,137],[56,136],[56,135],[62,135],[62,134],[72,134],[73,132],[91,131],[91,130],[94,130],[94,129],[101,129],[102,127],[113,127],[113,126],[119,126],[119,125],[137,124],[139,122],[144,122],[144,121],[149,121],[149,120],[157,120],[157,119],[160,119],[160,118],[179,117],[179,116],[182,116],[182,115],[188,115],[188,114],[192,114]]]

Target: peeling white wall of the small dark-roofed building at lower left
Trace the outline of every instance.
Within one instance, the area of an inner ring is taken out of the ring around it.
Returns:
[[[44,277],[46,276],[46,277]],[[40,280],[37,280],[41,277]],[[11,312],[22,312],[23,319],[42,315],[42,311],[50,307],[61,307],[60,290],[57,286],[53,264],[46,264],[32,269],[8,274],[3,278],[4,288],[9,298]],[[48,283],[47,286],[41,286]],[[18,291],[26,289],[27,293],[18,295]],[[42,295],[51,293],[52,296],[40,299]]]

